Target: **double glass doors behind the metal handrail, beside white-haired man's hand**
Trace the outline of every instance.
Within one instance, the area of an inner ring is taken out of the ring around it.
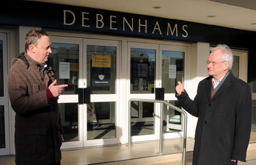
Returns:
[[[175,98],[178,81],[184,83],[185,58],[189,45],[159,45],[129,42],[130,95],[129,98],[155,99],[155,89],[164,88],[164,100],[180,107]],[[131,102],[132,141],[159,139],[161,105]],[[182,114],[163,107],[164,138],[180,137]]]

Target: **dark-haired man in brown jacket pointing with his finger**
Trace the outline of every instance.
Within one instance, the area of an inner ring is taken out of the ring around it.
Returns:
[[[15,163],[60,164],[63,142],[58,96],[67,85],[56,85],[46,65],[51,53],[49,35],[32,29],[26,35],[26,52],[12,59],[8,92],[15,116]]]

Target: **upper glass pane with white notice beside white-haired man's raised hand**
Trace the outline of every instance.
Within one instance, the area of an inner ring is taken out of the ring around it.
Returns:
[[[184,52],[162,51],[162,88],[164,88],[164,93],[175,93],[178,81],[184,81]]]

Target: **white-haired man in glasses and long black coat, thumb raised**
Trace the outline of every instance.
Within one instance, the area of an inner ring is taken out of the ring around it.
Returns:
[[[227,45],[212,49],[207,60],[209,77],[200,81],[191,100],[179,82],[176,97],[198,117],[193,165],[228,165],[246,161],[252,126],[250,86],[230,71],[233,55]]]

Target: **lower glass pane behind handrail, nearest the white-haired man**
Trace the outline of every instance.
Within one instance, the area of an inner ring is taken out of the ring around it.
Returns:
[[[173,106],[181,108],[178,100],[168,101]],[[169,106],[163,105],[163,122],[164,133],[180,132],[182,131],[182,114]]]

